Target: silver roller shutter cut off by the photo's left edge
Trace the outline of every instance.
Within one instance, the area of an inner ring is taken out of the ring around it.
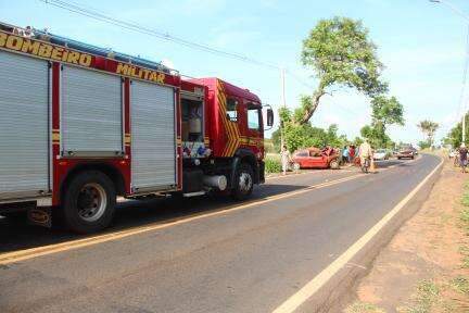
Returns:
[[[49,190],[48,62],[0,51],[0,199]]]

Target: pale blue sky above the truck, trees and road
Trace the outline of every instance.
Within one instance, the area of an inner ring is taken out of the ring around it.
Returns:
[[[385,66],[383,79],[390,85],[390,96],[395,96],[405,109],[406,125],[389,128],[394,141],[421,140],[423,135],[416,124],[424,118],[441,125],[439,140],[462,112],[459,97],[468,22],[447,7],[428,0],[73,0],[73,3],[286,67],[294,73],[286,76],[286,102],[292,109],[299,105],[301,95],[312,93],[312,86],[317,84],[314,72],[300,62],[302,40],[309,30],[319,20],[335,15],[362,20]],[[469,15],[468,0],[451,3]],[[275,109],[281,104],[280,72],[275,68],[126,30],[40,0],[0,0],[0,21],[48,28],[52,34],[163,61],[187,76],[220,77],[250,89]],[[319,127],[338,124],[339,132],[352,139],[370,123],[369,99],[342,88],[322,99],[310,121]]]

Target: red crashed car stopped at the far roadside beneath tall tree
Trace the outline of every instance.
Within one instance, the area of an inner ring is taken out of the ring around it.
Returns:
[[[340,167],[340,153],[333,148],[307,148],[293,153],[293,168],[333,168]]]

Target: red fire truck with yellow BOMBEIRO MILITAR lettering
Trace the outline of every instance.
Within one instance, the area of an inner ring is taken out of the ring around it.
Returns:
[[[117,197],[243,200],[264,183],[271,108],[264,123],[258,97],[221,79],[0,24],[0,82],[1,215],[91,233]]]

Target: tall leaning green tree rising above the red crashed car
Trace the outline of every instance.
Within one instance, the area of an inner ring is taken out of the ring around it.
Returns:
[[[371,97],[388,90],[388,85],[380,82],[383,65],[368,37],[362,22],[348,17],[321,20],[310,30],[303,41],[302,63],[319,82],[312,96],[301,98],[294,122],[308,123],[321,97],[334,87],[355,88]]]

